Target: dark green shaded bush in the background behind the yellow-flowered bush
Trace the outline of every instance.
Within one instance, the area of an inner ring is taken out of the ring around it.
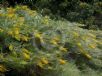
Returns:
[[[86,24],[87,29],[101,29],[102,1],[100,0],[7,0],[12,6],[25,4],[39,9],[52,18],[65,18],[72,22]]]

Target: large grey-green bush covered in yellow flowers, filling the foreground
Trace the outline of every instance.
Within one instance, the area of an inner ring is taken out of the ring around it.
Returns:
[[[51,20],[27,6],[2,8],[0,74],[79,76],[90,68],[101,76],[102,31],[78,26],[83,25]]]

